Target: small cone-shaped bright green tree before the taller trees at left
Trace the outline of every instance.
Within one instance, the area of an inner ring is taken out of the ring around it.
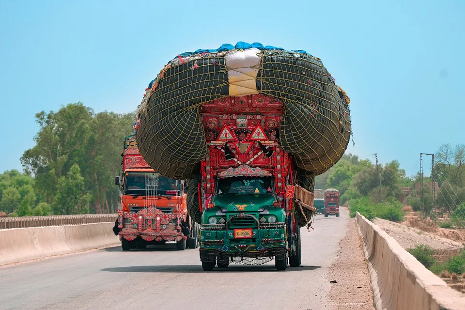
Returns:
[[[52,204],[54,214],[84,214],[88,212],[90,195],[84,185],[84,178],[78,164],[74,164],[65,176],[60,177],[57,195]]]

